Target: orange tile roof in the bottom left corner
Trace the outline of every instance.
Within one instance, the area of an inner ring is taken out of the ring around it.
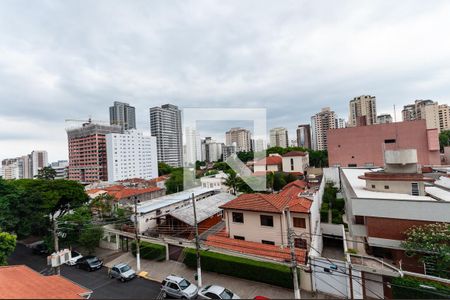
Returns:
[[[44,276],[27,266],[0,267],[0,299],[83,299],[92,293],[59,276]]]

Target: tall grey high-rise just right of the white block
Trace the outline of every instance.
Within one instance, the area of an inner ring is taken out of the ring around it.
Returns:
[[[172,167],[183,166],[183,133],[178,107],[164,104],[150,108],[150,131],[156,137],[158,161]]]

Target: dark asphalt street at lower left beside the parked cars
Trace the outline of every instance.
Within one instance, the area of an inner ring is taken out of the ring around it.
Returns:
[[[46,258],[31,254],[31,249],[18,244],[8,259],[11,265],[27,265],[41,272],[47,270]],[[91,299],[154,299],[158,296],[161,284],[142,278],[122,283],[109,279],[106,268],[87,272],[75,267],[62,266],[61,275],[94,291]]]

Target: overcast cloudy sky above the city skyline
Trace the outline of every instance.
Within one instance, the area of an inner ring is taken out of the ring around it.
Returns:
[[[0,1],[0,159],[67,158],[66,118],[264,107],[294,128],[377,97],[450,103],[450,1]],[[397,118],[399,119],[399,118]]]

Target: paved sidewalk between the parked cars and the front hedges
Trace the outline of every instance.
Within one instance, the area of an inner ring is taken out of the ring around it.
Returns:
[[[110,268],[119,262],[127,263],[136,270],[136,258],[131,253],[123,253],[120,257],[105,263],[105,266]],[[147,276],[158,282],[161,282],[167,275],[174,274],[195,283],[195,270],[189,269],[183,263],[176,261],[168,260],[157,262],[142,259],[141,272],[142,271],[148,272]],[[202,275],[203,286],[206,286],[207,284],[221,285],[235,292],[243,299],[252,299],[255,296],[265,296],[270,299],[292,299],[294,297],[294,291],[286,288],[212,272],[202,272]],[[322,296],[323,295],[320,295],[319,297],[324,298]],[[311,293],[302,291],[302,298],[311,299],[318,297],[313,297]]]

